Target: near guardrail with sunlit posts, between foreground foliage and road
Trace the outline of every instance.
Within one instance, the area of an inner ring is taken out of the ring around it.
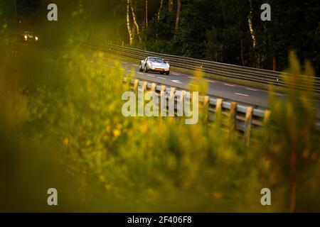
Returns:
[[[130,77],[125,77],[123,83],[124,86],[129,87],[134,92],[151,91],[156,92],[158,96],[164,95],[167,100],[174,99],[176,111],[178,111],[178,99],[186,97],[187,101],[191,101],[191,96],[188,96],[185,90],[178,90],[175,87],[131,79]],[[166,104],[168,105],[169,101]],[[223,99],[215,99],[209,96],[199,96],[199,106],[201,107],[199,113],[202,113],[199,121],[211,125],[217,122],[218,116],[221,116],[220,126],[230,133],[238,131],[239,135],[242,135],[245,139],[245,143],[250,142],[251,135],[255,135],[255,138],[262,136],[262,126],[270,116],[270,111],[253,109],[251,106],[242,106],[236,102],[223,101]]]

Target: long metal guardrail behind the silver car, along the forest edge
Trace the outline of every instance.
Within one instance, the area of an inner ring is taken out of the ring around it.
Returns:
[[[271,70],[261,70],[251,67],[242,67],[238,65],[228,65],[219,62],[210,62],[207,60],[198,60],[189,57],[180,57],[175,55],[165,55],[156,52],[149,52],[145,50],[139,50],[134,48],[127,48],[119,45],[112,45],[109,43],[100,43],[96,41],[88,41],[87,46],[94,50],[102,50],[110,52],[115,55],[124,57],[130,57],[134,60],[142,60],[148,56],[159,56],[170,61],[174,67],[179,67],[186,70],[201,69],[207,74],[212,74],[218,77],[227,79],[236,79],[239,82],[249,82],[250,84],[258,84],[260,86],[266,86],[272,84],[274,86],[284,86],[281,72],[275,72]],[[304,77],[300,75],[299,77]],[[289,79],[289,78],[288,78]],[[294,85],[297,89],[309,89],[304,79],[299,84]],[[320,94],[320,79],[314,78],[314,92]]]

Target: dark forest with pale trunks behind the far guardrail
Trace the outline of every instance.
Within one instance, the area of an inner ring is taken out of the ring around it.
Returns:
[[[95,39],[278,71],[288,66],[289,51],[295,50],[320,74],[319,0],[2,0],[6,11],[1,15],[34,25],[48,23],[49,3],[58,4],[58,23],[78,16]],[[265,3],[272,18],[263,22],[260,6]]]

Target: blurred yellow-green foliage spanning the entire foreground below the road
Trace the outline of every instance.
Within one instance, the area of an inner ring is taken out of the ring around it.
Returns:
[[[0,65],[1,211],[289,211],[294,179],[295,210],[319,211],[311,92],[271,99],[265,143],[247,147],[201,123],[124,118],[122,67],[68,40],[57,60],[30,45]],[[9,48],[2,43],[1,55]],[[289,72],[299,82],[297,60]],[[206,93],[201,72],[194,83]],[[57,208],[46,205],[49,187],[61,194]],[[264,187],[270,207],[260,204]]]

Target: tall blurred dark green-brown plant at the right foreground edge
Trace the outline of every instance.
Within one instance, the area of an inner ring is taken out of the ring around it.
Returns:
[[[302,70],[294,52],[291,52],[289,60],[289,70],[282,74],[288,96],[286,99],[270,96],[272,114],[265,128],[263,150],[274,170],[270,175],[274,187],[288,186],[283,192],[287,194],[284,206],[290,207],[287,211],[312,211],[319,209],[316,188],[319,187],[320,152],[317,109],[312,92],[314,71],[309,62]],[[306,89],[294,87],[302,83]],[[306,201],[312,201],[313,207]]]

